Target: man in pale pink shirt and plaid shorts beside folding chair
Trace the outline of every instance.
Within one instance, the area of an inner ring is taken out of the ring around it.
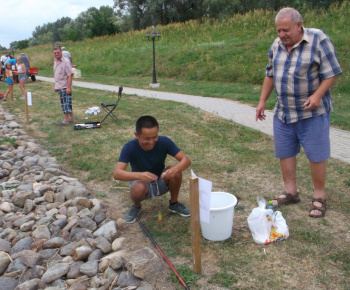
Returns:
[[[63,121],[57,123],[57,126],[69,125],[75,123],[72,107],[72,79],[73,72],[70,62],[62,57],[61,49],[54,48],[53,54],[55,56],[53,72],[55,79],[55,92],[59,92],[61,107],[63,111]]]

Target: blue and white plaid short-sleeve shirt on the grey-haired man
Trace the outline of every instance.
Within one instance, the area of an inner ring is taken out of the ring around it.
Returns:
[[[275,115],[287,124],[322,115],[333,109],[330,91],[315,110],[306,110],[305,101],[322,80],[341,74],[334,46],[322,30],[304,28],[302,40],[290,52],[277,38],[271,45],[266,76],[273,77],[277,102]]]

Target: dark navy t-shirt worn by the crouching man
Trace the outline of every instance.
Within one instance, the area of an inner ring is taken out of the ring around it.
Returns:
[[[158,177],[165,168],[167,155],[175,156],[180,148],[166,136],[159,136],[151,151],[144,151],[137,138],[126,143],[120,152],[118,162],[130,163],[132,172],[151,172]]]

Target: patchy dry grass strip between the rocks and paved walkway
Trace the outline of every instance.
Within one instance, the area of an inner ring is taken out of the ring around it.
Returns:
[[[192,281],[191,289],[349,289],[349,164],[329,160],[327,216],[311,219],[308,208],[312,184],[307,160],[301,153],[297,178],[302,202],[281,208],[290,238],[261,246],[254,243],[246,220],[256,207],[257,195],[272,198],[282,189],[272,138],[184,104],[129,95],[123,95],[118,106],[118,123],[109,119],[101,129],[75,131],[73,126],[55,126],[61,120],[61,109],[52,84],[30,83],[27,89],[33,94],[34,106],[29,108],[30,125],[24,128],[58,158],[65,170],[108,204],[112,218],[122,218],[130,205],[127,184],[113,181],[112,173],[120,149],[133,138],[134,122],[142,114],[152,114],[159,120],[160,133],[170,136],[190,156],[191,168],[198,176],[211,180],[214,191],[229,192],[239,199],[232,236],[222,242],[202,239],[201,275],[191,271],[190,220],[168,213],[167,196],[143,203],[142,221],[185,281]],[[73,96],[77,120],[83,122],[102,118],[98,115],[86,120],[87,108],[112,100],[105,92],[82,88],[75,88]],[[25,124],[23,102],[3,106]],[[189,177],[186,170],[180,197],[186,204]],[[155,218],[159,211],[163,213],[162,223]],[[152,247],[137,224],[128,226],[122,234],[129,239],[130,249]],[[159,284],[181,289],[177,282],[158,281],[157,289],[161,288]]]

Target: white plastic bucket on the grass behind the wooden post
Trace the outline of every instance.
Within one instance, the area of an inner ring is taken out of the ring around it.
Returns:
[[[223,241],[231,237],[237,198],[226,192],[212,192],[209,223],[200,221],[202,235],[210,241]]]

